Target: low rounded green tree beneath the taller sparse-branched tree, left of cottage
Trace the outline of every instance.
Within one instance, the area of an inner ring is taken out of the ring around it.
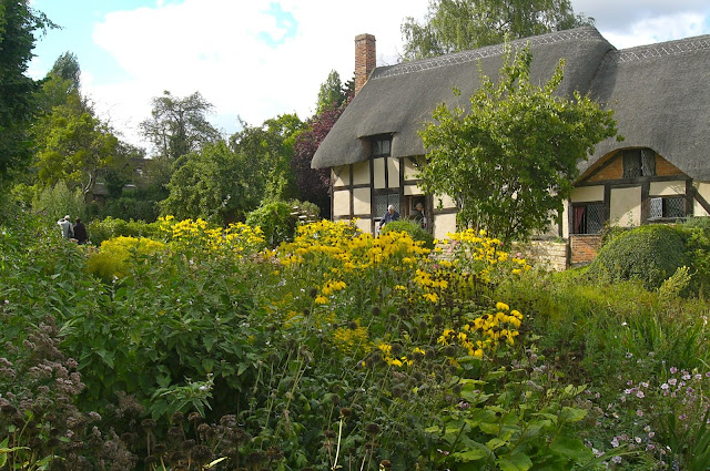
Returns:
[[[258,162],[233,152],[224,141],[187,154],[160,203],[164,215],[179,219],[202,217],[219,224],[244,221],[261,201]]]

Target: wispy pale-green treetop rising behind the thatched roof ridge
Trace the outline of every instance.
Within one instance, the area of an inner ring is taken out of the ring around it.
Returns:
[[[594,24],[570,0],[429,0],[424,24],[402,24],[404,59],[417,60],[506,40]]]

